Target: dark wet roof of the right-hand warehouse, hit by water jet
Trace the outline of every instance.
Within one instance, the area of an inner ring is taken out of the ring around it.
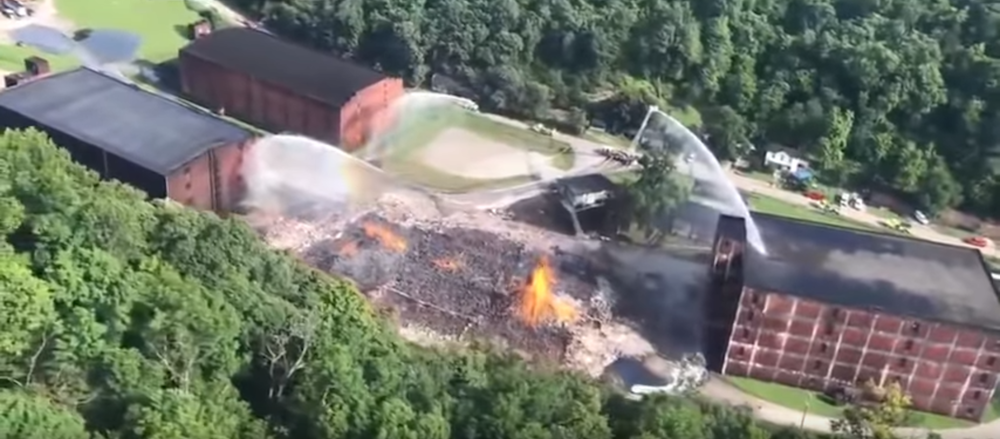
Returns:
[[[761,213],[752,218],[766,254],[747,251],[748,287],[1000,329],[1000,300],[978,250]]]

